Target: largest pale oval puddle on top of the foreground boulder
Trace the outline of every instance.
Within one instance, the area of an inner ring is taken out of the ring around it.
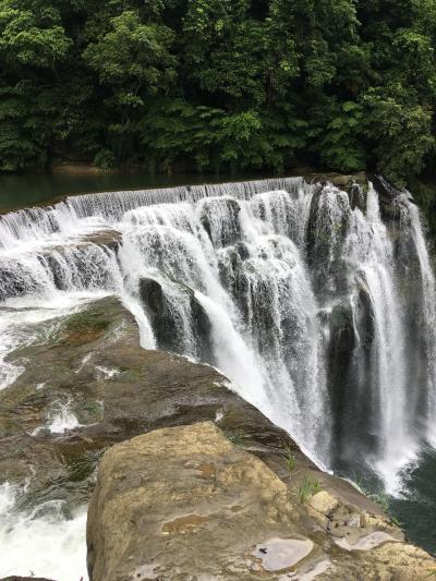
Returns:
[[[304,559],[314,544],[308,538],[271,538],[266,543],[256,545],[255,556],[262,559],[262,567],[266,571],[281,571],[293,567]]]

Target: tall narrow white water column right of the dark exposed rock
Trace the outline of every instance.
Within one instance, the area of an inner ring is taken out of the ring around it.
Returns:
[[[360,243],[361,242],[361,243]],[[401,487],[398,471],[415,457],[416,441],[408,416],[405,335],[396,278],[393,244],[380,218],[378,196],[373,186],[367,193],[367,211],[353,216],[348,240],[349,259],[365,286],[374,315],[375,339],[373,390],[379,394],[379,448],[374,468],[386,489]]]

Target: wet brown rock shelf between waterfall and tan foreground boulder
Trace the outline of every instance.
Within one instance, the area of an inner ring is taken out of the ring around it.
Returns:
[[[101,453],[158,427],[216,420],[258,453],[287,446],[304,458],[213,367],[141,349],[135,320],[116,299],[40,325],[10,361],[24,372],[0,391],[0,483],[27,481],[23,507],[86,503]],[[62,414],[74,422],[59,433]]]

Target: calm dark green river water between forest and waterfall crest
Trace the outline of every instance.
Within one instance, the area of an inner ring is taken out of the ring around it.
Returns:
[[[238,174],[238,180],[262,179],[267,175]],[[149,173],[81,174],[81,173],[23,173],[0,174],[0,210],[41,204],[57,196],[84,192],[138,190],[234,181],[231,174],[181,173],[150,175]]]

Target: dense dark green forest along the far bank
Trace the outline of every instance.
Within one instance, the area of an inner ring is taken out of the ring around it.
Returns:
[[[0,0],[0,170],[435,167],[436,0]]]

